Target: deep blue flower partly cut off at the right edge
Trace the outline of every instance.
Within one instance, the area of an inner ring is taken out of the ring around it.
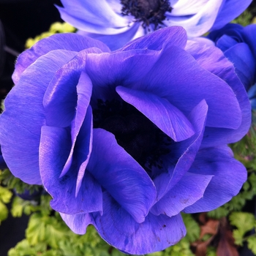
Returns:
[[[238,77],[248,91],[252,108],[256,109],[256,24],[246,27],[227,24],[211,32],[208,38],[233,62]]]

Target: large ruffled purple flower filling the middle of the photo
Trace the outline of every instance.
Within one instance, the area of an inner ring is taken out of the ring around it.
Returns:
[[[0,117],[7,165],[43,184],[79,234],[94,225],[123,252],[176,244],[181,211],[211,211],[246,170],[227,143],[249,129],[244,86],[222,51],[160,29],[115,52],[78,34],[18,57]]]

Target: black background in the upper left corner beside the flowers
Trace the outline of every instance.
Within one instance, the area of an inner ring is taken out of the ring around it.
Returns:
[[[72,1],[72,0],[71,0]],[[48,31],[50,24],[61,21],[54,4],[60,0],[0,0],[0,48],[5,44],[14,51],[8,53],[0,49],[0,99],[12,88],[12,72],[15,52],[24,50],[26,39]]]

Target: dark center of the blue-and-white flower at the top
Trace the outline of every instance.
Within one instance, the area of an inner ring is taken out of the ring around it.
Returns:
[[[172,7],[168,0],[121,0],[123,15],[132,15],[136,20],[142,21],[143,26],[154,25],[157,30],[165,20],[165,12],[171,12]]]

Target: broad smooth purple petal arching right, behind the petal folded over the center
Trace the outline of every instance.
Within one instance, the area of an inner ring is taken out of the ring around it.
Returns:
[[[186,116],[197,102],[206,99],[209,107],[206,122],[208,127],[237,129],[241,125],[241,109],[230,86],[225,80],[200,67],[181,48],[171,46],[162,50],[157,63],[136,87],[164,97]]]

